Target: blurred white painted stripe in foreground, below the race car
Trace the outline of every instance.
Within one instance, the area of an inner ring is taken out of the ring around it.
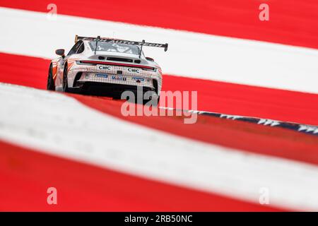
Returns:
[[[257,203],[318,210],[318,167],[192,141],[90,109],[59,93],[0,83],[0,139],[129,174]]]

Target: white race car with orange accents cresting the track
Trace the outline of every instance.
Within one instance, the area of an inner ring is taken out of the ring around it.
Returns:
[[[167,51],[167,43],[77,35],[75,42],[66,56],[64,49],[55,51],[61,57],[49,65],[47,90],[120,98],[125,90],[142,87],[144,93],[151,90],[160,96],[161,68],[152,58],[145,57],[143,47],[163,47]]]

